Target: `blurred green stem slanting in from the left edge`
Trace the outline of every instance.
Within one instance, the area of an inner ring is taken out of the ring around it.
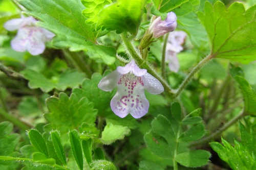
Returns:
[[[21,120],[19,120],[18,118],[12,116],[11,114],[8,114],[8,112],[5,111],[2,108],[0,108],[0,116],[4,117],[6,120],[8,120],[13,125],[19,127],[22,130],[28,130],[28,129],[31,128],[31,126],[29,126],[28,124],[22,122]]]

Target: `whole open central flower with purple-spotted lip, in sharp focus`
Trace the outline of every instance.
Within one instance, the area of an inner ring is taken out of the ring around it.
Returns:
[[[122,118],[129,113],[134,118],[147,113],[150,104],[145,97],[145,89],[152,94],[159,94],[164,90],[162,84],[148,74],[146,69],[140,69],[134,60],[124,67],[118,66],[99,82],[98,87],[104,91],[117,87],[110,105],[113,112]]]

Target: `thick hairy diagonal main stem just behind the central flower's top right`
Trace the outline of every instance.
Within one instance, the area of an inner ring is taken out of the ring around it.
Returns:
[[[170,88],[170,86],[168,85],[168,83],[166,81],[164,81],[158,74],[156,71],[154,71],[150,65],[147,64],[147,62],[145,60],[142,59],[142,57],[140,56],[140,54],[137,53],[137,51],[135,50],[135,47],[133,46],[133,44],[131,43],[131,38],[127,38],[125,37],[124,34],[121,34],[123,43],[127,49],[127,51],[130,53],[130,55],[133,57],[133,59],[135,60],[135,62],[142,68],[147,69],[147,72],[149,74],[151,74],[152,76],[154,76],[156,79],[158,79],[163,87],[164,90],[170,94],[171,96],[174,95],[174,91],[172,88]]]

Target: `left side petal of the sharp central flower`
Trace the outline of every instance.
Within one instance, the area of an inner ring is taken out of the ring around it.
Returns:
[[[110,74],[106,75],[105,77],[103,77],[103,79],[101,79],[98,84],[99,89],[104,91],[113,90],[117,86],[120,76],[121,75],[117,70],[112,71]]]

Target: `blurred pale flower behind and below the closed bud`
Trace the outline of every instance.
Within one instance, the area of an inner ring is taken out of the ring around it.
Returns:
[[[182,44],[185,42],[186,36],[184,31],[174,31],[169,34],[165,58],[169,62],[168,66],[171,71],[179,71],[180,63],[177,54],[183,50]]]

